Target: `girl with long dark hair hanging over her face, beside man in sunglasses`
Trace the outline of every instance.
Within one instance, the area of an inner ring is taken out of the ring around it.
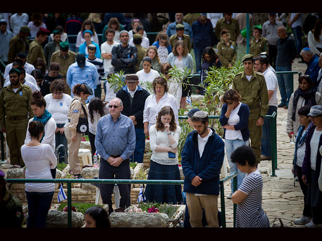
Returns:
[[[108,107],[108,102],[101,100],[98,97],[93,97],[89,103],[86,104],[89,110],[89,139],[91,143],[92,149],[92,157],[96,152],[95,147],[95,137],[96,137],[96,130],[97,130],[97,123],[99,119],[110,113],[110,109]]]

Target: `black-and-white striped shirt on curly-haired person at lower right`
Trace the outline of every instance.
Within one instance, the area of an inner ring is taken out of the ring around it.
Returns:
[[[262,208],[263,179],[256,170],[247,175],[238,190],[247,194],[237,205],[236,227],[270,227],[269,219]]]

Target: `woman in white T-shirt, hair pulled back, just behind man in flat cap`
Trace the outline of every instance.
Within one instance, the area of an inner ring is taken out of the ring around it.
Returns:
[[[140,86],[152,94],[152,89],[149,88],[149,85],[146,84],[146,82],[152,83],[156,77],[160,76],[160,74],[156,70],[151,69],[152,60],[150,57],[144,57],[142,60],[142,65],[143,69],[137,71],[136,75],[139,77]]]

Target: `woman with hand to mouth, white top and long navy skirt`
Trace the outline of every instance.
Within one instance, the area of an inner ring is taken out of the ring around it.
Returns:
[[[158,112],[156,124],[149,132],[152,156],[147,179],[180,180],[178,143],[181,129],[170,106],[164,106]],[[146,185],[145,197],[148,202],[177,204],[182,197],[181,185]]]

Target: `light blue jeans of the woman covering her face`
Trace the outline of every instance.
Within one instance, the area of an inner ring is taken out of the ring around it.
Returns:
[[[226,157],[227,161],[230,167],[229,173],[237,172],[237,188],[243,181],[243,179],[246,177],[246,173],[241,172],[239,169],[237,170],[237,164],[232,163],[230,160],[231,154],[233,153],[234,150],[236,150],[238,147],[241,146],[249,146],[250,141],[244,141],[244,140],[227,140],[225,139],[225,148],[226,148]],[[233,193],[233,179],[231,179],[231,193]],[[236,190],[237,190],[236,188]]]

